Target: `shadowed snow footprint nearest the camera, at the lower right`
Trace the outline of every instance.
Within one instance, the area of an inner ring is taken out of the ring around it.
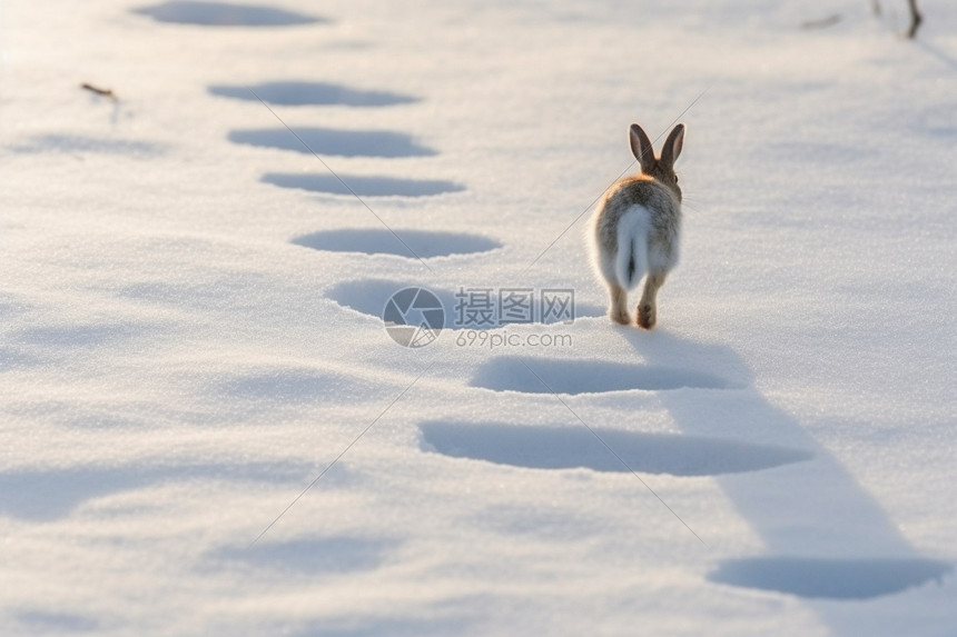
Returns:
[[[950,570],[946,563],[920,558],[756,557],[724,561],[708,579],[798,597],[869,599],[939,580]]]

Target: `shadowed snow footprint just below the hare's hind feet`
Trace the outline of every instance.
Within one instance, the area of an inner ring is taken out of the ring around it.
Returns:
[[[493,358],[470,381],[472,387],[525,394],[598,394],[629,389],[727,389],[731,385],[704,371],[654,365],[561,358]]]

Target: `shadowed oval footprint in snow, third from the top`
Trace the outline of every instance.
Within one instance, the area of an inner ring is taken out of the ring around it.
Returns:
[[[296,138],[298,136],[298,139]],[[303,141],[299,141],[302,139]],[[296,152],[338,157],[430,157],[438,152],[417,143],[412,136],[388,130],[336,130],[332,128],[297,128],[292,135],[285,128],[234,130],[229,141],[294,150]],[[309,148],[303,146],[305,142]]]

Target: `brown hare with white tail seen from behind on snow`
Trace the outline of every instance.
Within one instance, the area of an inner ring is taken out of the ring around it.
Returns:
[[[668,135],[661,157],[637,123],[629,130],[631,152],[640,171],[615,182],[592,218],[593,262],[608,283],[609,317],[628,325],[628,292],[648,275],[638,303],[639,327],[651,329],[658,319],[655,298],[668,272],[678,263],[681,231],[681,189],[674,160],[684,143],[684,125]]]

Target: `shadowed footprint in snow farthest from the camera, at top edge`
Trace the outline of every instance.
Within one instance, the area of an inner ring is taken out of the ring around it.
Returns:
[[[204,27],[289,27],[326,21],[273,7],[228,2],[161,2],[132,9],[132,12],[149,16],[158,22]]]

